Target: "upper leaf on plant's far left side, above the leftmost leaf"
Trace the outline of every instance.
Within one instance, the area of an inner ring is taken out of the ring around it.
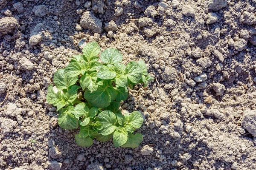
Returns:
[[[70,87],[71,85],[76,84],[78,80],[78,76],[76,77],[66,77],[64,75],[65,69],[58,69],[54,74],[54,84],[58,88],[58,90],[66,89]]]

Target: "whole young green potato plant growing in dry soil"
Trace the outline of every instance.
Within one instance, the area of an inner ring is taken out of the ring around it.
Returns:
[[[76,143],[89,147],[96,138],[106,142],[113,136],[115,147],[137,147],[143,135],[134,130],[143,124],[143,116],[134,111],[122,115],[122,101],[128,87],[144,86],[153,80],[143,60],[122,64],[122,54],[107,48],[100,55],[97,42],[88,43],[83,54],[73,55],[66,68],[56,71],[54,85],[48,86],[47,102],[57,107],[58,125],[72,130],[79,127]]]

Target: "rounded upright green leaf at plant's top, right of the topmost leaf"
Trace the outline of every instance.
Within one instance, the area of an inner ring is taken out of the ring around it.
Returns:
[[[100,55],[102,62],[107,64],[114,64],[122,61],[122,54],[116,48],[107,48]]]

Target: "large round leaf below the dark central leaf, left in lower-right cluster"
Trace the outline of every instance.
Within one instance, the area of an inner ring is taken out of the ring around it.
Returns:
[[[96,122],[101,123],[101,125],[99,127],[96,126],[96,128],[102,135],[109,135],[116,129],[116,115],[111,111],[107,110],[99,113],[96,117]]]

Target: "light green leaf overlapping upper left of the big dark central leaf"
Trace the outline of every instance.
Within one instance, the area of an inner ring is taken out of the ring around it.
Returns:
[[[82,89],[86,89],[88,88],[90,90],[90,92],[96,91],[98,88],[97,85],[97,73],[93,72],[91,74],[85,74],[81,77],[81,79],[79,80],[79,83],[82,87]]]

